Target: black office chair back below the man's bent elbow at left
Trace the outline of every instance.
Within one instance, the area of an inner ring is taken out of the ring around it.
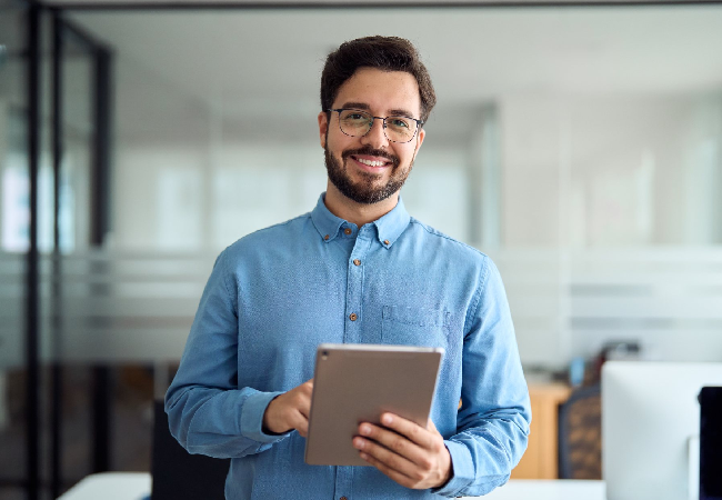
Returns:
[[[156,401],[151,500],[224,500],[230,460],[190,454],[168,429],[163,402]]]

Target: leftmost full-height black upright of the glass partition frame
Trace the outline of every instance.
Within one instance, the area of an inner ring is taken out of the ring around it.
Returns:
[[[28,500],[38,500],[40,483],[40,362],[38,290],[38,170],[40,158],[40,7],[28,8],[28,170],[30,180],[30,244],[27,262],[27,474]]]

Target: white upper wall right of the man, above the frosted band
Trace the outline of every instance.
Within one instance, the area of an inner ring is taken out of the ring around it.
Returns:
[[[503,98],[504,243],[722,243],[721,96]]]

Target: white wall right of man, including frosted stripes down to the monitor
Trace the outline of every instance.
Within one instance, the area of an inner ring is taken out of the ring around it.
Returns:
[[[722,94],[500,100],[499,258],[522,359],[722,359]],[[685,340],[682,340],[682,339]]]

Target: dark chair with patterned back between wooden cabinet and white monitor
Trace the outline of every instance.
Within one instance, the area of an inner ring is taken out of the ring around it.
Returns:
[[[602,479],[599,384],[575,390],[559,407],[559,478]]]

